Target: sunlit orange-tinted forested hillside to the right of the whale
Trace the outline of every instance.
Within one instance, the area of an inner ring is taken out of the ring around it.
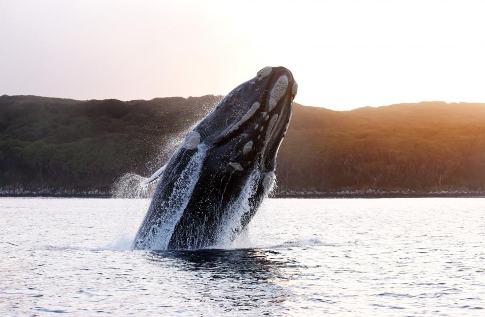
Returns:
[[[278,157],[280,188],[485,189],[485,104],[300,106],[290,127]]]

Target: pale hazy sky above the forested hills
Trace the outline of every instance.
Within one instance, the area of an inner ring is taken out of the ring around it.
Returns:
[[[0,95],[227,94],[285,66],[334,110],[485,102],[485,2],[0,0]]]

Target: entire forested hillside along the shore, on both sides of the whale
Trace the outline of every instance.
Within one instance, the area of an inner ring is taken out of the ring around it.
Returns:
[[[0,96],[0,187],[107,191],[148,176],[218,100]],[[277,177],[280,191],[485,190],[485,104],[295,104]]]

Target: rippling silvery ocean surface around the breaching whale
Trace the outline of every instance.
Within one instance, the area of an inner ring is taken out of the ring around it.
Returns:
[[[149,203],[0,198],[0,315],[485,315],[485,199],[270,199],[232,245],[132,251]]]

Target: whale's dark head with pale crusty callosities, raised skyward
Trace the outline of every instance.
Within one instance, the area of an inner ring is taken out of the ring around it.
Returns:
[[[187,147],[207,144],[214,149],[217,162],[235,173],[254,166],[261,173],[273,172],[297,89],[292,72],[285,67],[262,68],[225,96],[187,135]]]

